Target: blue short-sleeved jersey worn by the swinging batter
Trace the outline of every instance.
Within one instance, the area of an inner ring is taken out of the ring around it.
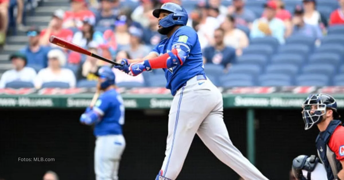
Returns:
[[[205,74],[201,45],[196,31],[189,26],[178,28],[170,38],[160,41],[153,49],[153,52],[161,55],[170,52],[178,46],[185,46],[190,50],[185,62],[183,65],[178,65],[174,68],[163,69],[167,80],[166,88],[171,90],[173,96],[187,80],[196,75]]]

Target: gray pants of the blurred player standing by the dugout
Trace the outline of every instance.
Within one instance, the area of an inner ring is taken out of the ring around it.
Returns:
[[[123,135],[97,137],[94,150],[96,180],[118,180],[119,161],[125,146]]]

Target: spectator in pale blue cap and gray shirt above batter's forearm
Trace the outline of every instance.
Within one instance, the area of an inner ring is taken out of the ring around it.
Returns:
[[[135,26],[129,28],[129,45],[124,46],[122,50],[127,51],[131,58],[143,58],[150,52],[150,48],[147,45],[141,43],[143,31]]]

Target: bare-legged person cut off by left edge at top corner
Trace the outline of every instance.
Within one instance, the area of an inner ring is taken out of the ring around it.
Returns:
[[[9,4],[9,0],[0,0],[0,46],[2,46],[6,40]]]

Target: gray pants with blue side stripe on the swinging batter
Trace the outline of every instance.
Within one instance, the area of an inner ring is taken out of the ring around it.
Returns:
[[[162,174],[176,179],[197,134],[214,155],[245,180],[267,180],[232,144],[223,121],[222,94],[209,80],[191,78],[173,98]],[[206,162],[204,162],[206,166]]]

